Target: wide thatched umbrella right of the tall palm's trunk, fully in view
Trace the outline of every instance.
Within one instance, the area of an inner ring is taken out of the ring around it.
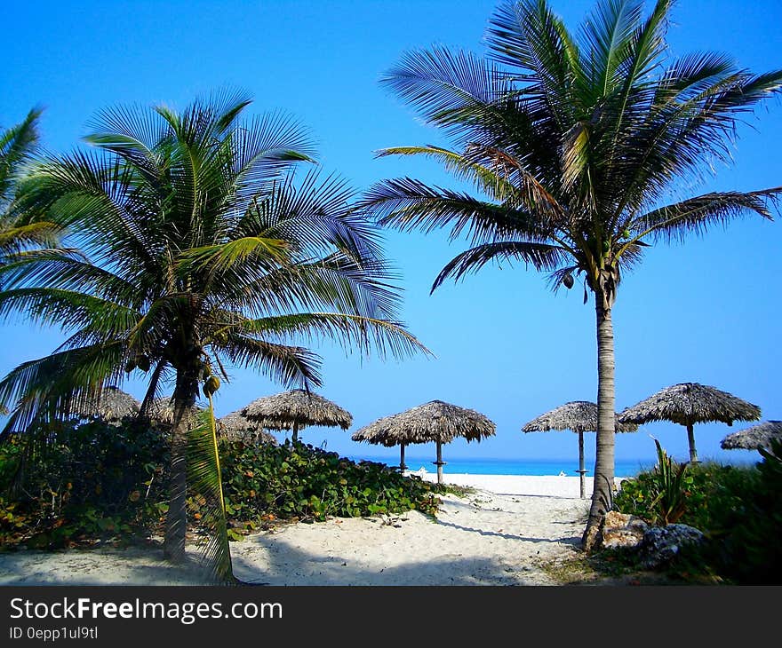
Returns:
[[[719,421],[732,425],[734,421],[757,421],[761,409],[727,391],[699,383],[679,383],[652,394],[618,416],[621,423],[671,421],[687,428],[690,442],[690,462],[698,462],[695,449],[695,423]]]

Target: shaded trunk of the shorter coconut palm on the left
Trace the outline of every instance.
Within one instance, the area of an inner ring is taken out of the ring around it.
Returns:
[[[188,530],[188,429],[197,393],[198,381],[195,375],[178,371],[173,395],[171,497],[164,537],[164,556],[175,563],[185,559],[185,533]]]

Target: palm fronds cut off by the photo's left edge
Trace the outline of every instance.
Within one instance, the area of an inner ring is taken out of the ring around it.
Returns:
[[[41,114],[40,108],[33,108],[20,123],[0,132],[0,265],[60,240],[59,226],[31,221],[17,211],[18,181],[36,153]]]

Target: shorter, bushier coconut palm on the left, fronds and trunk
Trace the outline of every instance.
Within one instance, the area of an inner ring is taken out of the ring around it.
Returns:
[[[220,492],[211,407],[194,413],[199,387],[211,400],[227,367],[320,385],[319,357],[293,344],[302,338],[426,351],[397,321],[377,227],[349,208],[352,190],[315,171],[295,182],[294,165],[311,161],[304,130],[281,114],[244,120],[250,103],[226,94],[182,112],[101,112],[85,138],[97,153],[44,160],[25,183],[24,209],[76,232],[89,258],[2,269],[0,312],[68,335],[0,381],[0,403],[12,406],[6,434],[68,415],[132,373],[148,376],[143,415],[172,383],[164,549],[174,561],[185,556],[188,462]]]

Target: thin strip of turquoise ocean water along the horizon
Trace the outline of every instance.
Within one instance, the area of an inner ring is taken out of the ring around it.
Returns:
[[[388,465],[396,465],[394,459],[388,457],[350,456],[350,459],[359,461],[366,459],[372,462],[382,462]],[[398,460],[396,460],[398,461]],[[436,466],[431,457],[405,457],[408,470],[425,468],[429,472],[435,472]],[[648,470],[654,466],[654,462],[621,461],[615,464],[617,477],[633,477],[641,470]],[[584,468],[586,476],[594,475],[594,459],[586,460]],[[533,459],[533,460],[507,460],[507,459],[451,459],[443,466],[443,471],[451,473],[468,473],[471,475],[559,475],[564,472],[572,477],[579,476],[578,459]]]

